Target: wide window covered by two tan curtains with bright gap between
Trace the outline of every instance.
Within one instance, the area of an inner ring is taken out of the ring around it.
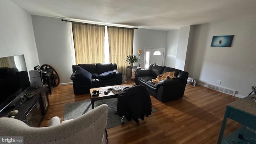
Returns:
[[[132,55],[133,28],[72,22],[76,64],[116,63],[129,74],[125,58]]]

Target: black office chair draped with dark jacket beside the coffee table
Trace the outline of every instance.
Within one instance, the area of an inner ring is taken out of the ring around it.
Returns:
[[[144,117],[151,114],[151,99],[145,86],[136,84],[120,92],[117,97],[117,114],[122,116],[121,122],[124,124],[124,117],[130,121],[134,120],[139,123]]]

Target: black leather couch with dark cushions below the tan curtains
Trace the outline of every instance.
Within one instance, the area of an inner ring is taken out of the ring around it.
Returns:
[[[122,84],[122,72],[116,64],[78,64],[72,66],[74,94],[90,93],[90,88]]]

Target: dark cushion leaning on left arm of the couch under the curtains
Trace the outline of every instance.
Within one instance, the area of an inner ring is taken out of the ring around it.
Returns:
[[[92,74],[80,66],[77,67],[74,76],[76,77],[77,81],[92,84]]]

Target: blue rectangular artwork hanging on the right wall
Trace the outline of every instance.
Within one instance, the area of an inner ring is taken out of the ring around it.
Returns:
[[[211,46],[231,47],[233,37],[234,37],[234,35],[232,35],[232,36],[213,36]]]

